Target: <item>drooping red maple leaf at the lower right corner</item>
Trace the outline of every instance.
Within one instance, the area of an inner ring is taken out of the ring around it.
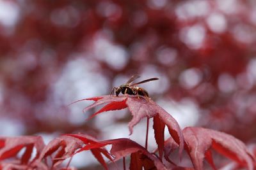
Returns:
[[[237,164],[253,169],[255,160],[244,143],[234,136],[202,127],[186,127],[182,132],[186,142],[185,148],[195,169],[204,169],[204,158],[216,169],[211,156],[211,148],[236,161]]]

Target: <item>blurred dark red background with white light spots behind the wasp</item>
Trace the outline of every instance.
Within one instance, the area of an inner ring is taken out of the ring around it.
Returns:
[[[88,103],[67,104],[140,74],[182,128],[250,143],[255,45],[255,1],[0,1],[0,135],[128,134],[125,111],[86,122]]]

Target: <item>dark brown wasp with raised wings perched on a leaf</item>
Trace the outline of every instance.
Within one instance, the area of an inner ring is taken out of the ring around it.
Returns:
[[[140,95],[140,96],[148,97],[148,92],[145,89],[138,87],[137,85],[146,83],[148,81],[159,80],[159,78],[155,77],[155,78],[149,78],[147,80],[140,81],[138,83],[133,83],[133,81],[136,80],[137,78],[140,78],[140,76],[138,75],[131,76],[131,78],[129,78],[129,80],[125,84],[120,85],[120,87],[114,87],[111,90],[110,95],[114,96],[114,93],[116,93],[116,97],[117,97],[120,94],[120,92],[122,92],[122,94],[130,94],[134,96]]]

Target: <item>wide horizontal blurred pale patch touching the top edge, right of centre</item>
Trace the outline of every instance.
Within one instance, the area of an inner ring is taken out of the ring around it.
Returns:
[[[181,3],[175,10],[180,20],[186,20],[194,17],[204,17],[210,11],[207,1],[186,1]]]

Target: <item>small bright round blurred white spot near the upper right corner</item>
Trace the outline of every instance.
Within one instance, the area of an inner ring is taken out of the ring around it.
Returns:
[[[206,21],[213,32],[221,33],[227,29],[226,18],[221,13],[211,13]]]

